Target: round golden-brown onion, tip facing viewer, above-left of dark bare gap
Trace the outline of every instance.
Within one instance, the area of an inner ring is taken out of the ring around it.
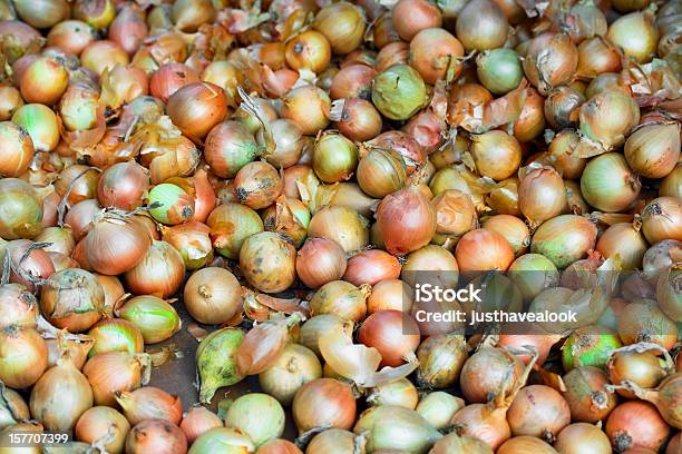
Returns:
[[[196,320],[220,325],[236,314],[241,303],[241,286],[227,269],[203,268],[187,279],[183,300]]]

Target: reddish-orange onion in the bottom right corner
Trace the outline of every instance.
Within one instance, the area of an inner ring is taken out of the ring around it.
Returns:
[[[656,407],[643,401],[629,401],[618,405],[606,420],[606,435],[617,452],[632,447],[659,451],[670,427]]]

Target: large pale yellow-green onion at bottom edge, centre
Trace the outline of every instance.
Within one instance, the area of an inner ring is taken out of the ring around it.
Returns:
[[[371,407],[358,418],[353,432],[369,432],[370,452],[397,450],[426,453],[442,435],[417,412],[396,405]]]

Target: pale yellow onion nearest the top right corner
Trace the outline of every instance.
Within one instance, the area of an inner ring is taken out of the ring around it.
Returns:
[[[616,19],[606,38],[639,63],[646,63],[656,53],[659,29],[650,12],[635,11]]]

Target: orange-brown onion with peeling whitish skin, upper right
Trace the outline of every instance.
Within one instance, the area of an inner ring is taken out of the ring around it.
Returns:
[[[578,51],[564,33],[546,32],[530,41],[524,72],[540,95],[571,81],[578,66]]]

